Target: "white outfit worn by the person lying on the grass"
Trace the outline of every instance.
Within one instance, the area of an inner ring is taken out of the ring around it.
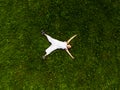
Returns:
[[[54,39],[52,37],[50,37],[49,35],[45,34],[45,36],[47,37],[48,41],[51,43],[51,46],[49,46],[46,49],[46,54],[50,54],[52,51],[56,50],[56,49],[67,49],[67,42],[63,42],[63,41],[59,41],[57,39]]]

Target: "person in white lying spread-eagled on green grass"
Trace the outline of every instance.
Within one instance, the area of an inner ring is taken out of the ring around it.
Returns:
[[[72,54],[69,52],[68,49],[71,48],[71,45],[69,44],[70,41],[75,38],[77,35],[72,36],[69,40],[67,41],[59,41],[57,39],[52,38],[51,36],[47,35],[44,31],[42,31],[42,34],[45,35],[48,39],[48,41],[51,43],[51,45],[45,50],[46,54],[43,56],[43,59],[46,58],[47,55],[49,55],[51,52],[57,50],[57,49],[63,49],[66,50],[66,52],[70,55],[72,59],[74,57]]]

